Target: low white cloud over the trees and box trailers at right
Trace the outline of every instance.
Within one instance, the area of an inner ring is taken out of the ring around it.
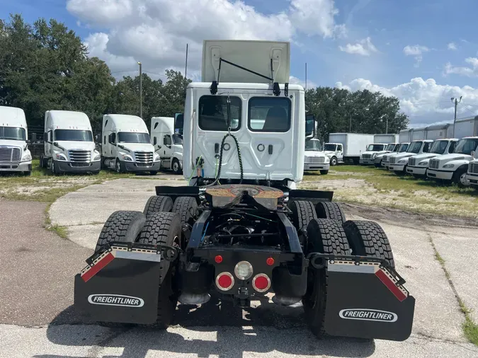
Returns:
[[[337,82],[336,87],[351,91],[367,89],[381,92],[384,96],[395,96],[400,100],[400,109],[410,116],[411,124],[414,125],[453,120],[452,97],[463,96],[462,105],[458,106],[460,117],[472,115],[466,105],[478,105],[478,88],[441,85],[434,79],[425,80],[421,77],[394,87],[378,86],[366,79],[355,79],[348,85]]]

